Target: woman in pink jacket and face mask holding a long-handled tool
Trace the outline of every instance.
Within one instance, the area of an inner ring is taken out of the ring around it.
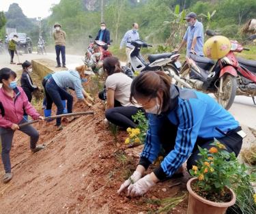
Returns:
[[[19,127],[25,123],[23,119],[24,110],[33,119],[44,120],[35,108],[27,100],[27,95],[21,87],[17,87],[16,73],[5,67],[0,70],[0,136],[1,136],[1,157],[5,169],[3,183],[8,183],[12,179],[10,150],[12,147],[12,138],[14,132],[19,129],[30,136],[30,149],[33,153],[44,149],[44,145],[36,145],[39,134],[31,125]],[[23,110],[24,109],[24,110]]]

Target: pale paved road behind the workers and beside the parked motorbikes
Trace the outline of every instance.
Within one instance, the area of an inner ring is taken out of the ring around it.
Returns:
[[[55,53],[48,53],[47,55],[37,55],[35,53],[31,55],[20,56],[20,61],[31,61],[32,59],[52,59],[55,61]],[[69,68],[74,68],[76,65],[83,64],[81,60],[82,56],[79,55],[66,55],[66,64]],[[15,62],[18,62],[17,57],[14,58]],[[10,65],[9,55],[0,55],[0,67],[10,67],[12,70],[21,70],[21,65]],[[256,106],[253,104],[251,97],[237,96],[234,104],[230,108],[230,112],[236,117],[242,125],[252,127],[256,129]]]

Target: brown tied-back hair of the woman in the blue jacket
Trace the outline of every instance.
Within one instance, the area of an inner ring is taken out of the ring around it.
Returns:
[[[130,102],[134,103],[134,99],[146,98],[151,100],[158,97],[160,100],[160,109],[167,112],[170,108],[171,77],[162,71],[143,72],[132,81],[130,89]],[[162,97],[160,97],[160,92]]]

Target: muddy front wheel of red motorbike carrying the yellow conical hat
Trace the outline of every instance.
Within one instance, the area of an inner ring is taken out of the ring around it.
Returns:
[[[229,110],[229,108],[233,104],[233,100],[235,100],[236,97],[236,89],[238,87],[238,84],[236,82],[236,77],[227,74],[223,78],[223,95],[220,94],[214,94],[218,99],[218,103],[223,106],[226,110]]]

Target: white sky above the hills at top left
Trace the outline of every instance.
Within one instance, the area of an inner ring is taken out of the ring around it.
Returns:
[[[51,5],[59,3],[60,0],[0,0],[0,11],[7,12],[10,4],[18,3],[23,14],[28,18],[46,18],[51,14]]]

